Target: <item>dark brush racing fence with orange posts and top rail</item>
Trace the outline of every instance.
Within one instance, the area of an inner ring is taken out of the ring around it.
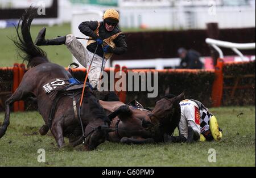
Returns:
[[[15,63],[13,67],[0,69],[0,111],[5,109],[5,100],[18,88],[24,73],[24,64]],[[207,107],[220,107],[221,105],[255,105],[255,61],[250,62],[224,62],[218,59],[213,70],[204,69],[127,69],[125,66],[115,65],[114,68],[105,69],[106,73],[141,73],[147,71],[158,72],[158,96],[148,98],[149,91],[116,91],[119,99],[127,103],[137,99],[147,107],[153,107],[156,100],[166,94],[178,95],[185,91],[186,98],[202,101]],[[73,69],[75,77],[84,80],[86,69]],[[119,78],[114,79],[114,84]],[[122,78],[127,82],[127,75]],[[144,82],[142,77],[139,83]],[[119,81],[120,82],[120,81]],[[126,85],[126,87],[128,87]],[[13,111],[27,111],[36,109],[36,104],[30,100],[17,101]]]

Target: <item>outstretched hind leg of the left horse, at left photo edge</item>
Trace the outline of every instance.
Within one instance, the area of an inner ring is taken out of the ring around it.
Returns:
[[[10,105],[13,104],[15,101],[23,100],[29,95],[28,91],[21,90],[19,87],[13,95],[9,99],[5,101],[5,120],[3,121],[2,126],[0,127],[0,138],[5,135],[7,127],[10,124]]]

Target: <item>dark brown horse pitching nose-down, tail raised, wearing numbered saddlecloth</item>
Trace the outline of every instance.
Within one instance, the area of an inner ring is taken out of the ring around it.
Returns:
[[[10,124],[10,105],[14,101],[24,100],[30,96],[36,97],[38,109],[43,120],[49,125],[49,113],[51,112],[53,100],[49,98],[43,86],[52,80],[68,80],[71,74],[55,63],[48,61],[46,53],[35,46],[30,35],[30,25],[37,15],[37,10],[30,7],[19,20],[21,24],[21,35],[19,25],[16,28],[18,40],[15,45],[25,54],[24,61],[27,61],[30,68],[19,84],[19,87],[9,99],[6,100],[5,120],[0,128],[0,138],[5,135],[7,127]],[[58,83],[57,83],[58,84]],[[60,83],[59,83],[60,84]],[[64,146],[64,137],[69,138],[69,143],[73,146],[82,142],[82,129],[80,121],[75,115],[73,101],[79,103],[81,94],[68,96],[65,95],[59,99],[56,104],[55,113],[51,124],[51,132],[57,145]],[[109,129],[109,118],[105,115],[104,109],[98,104],[98,100],[92,94],[89,87],[85,88],[84,100],[81,107],[81,121],[84,128],[85,149],[96,149],[100,143],[105,142]]]

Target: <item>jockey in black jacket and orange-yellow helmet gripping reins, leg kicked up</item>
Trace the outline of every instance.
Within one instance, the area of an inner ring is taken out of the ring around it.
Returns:
[[[40,45],[67,45],[67,48],[82,66],[88,67],[92,60],[93,53],[96,50],[90,73],[88,75],[89,83],[96,88],[100,80],[102,58],[104,57],[104,66],[113,54],[121,55],[127,51],[125,35],[118,28],[119,14],[114,9],[108,9],[104,12],[103,21],[85,21],[79,25],[80,32],[90,39],[86,48],[72,34],[46,40],[46,28],[42,28],[36,37],[35,44]],[[103,66],[103,68],[104,68]]]

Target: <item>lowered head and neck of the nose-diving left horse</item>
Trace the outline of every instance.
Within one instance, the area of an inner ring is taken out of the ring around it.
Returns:
[[[86,122],[88,123],[85,128],[84,135],[86,137],[86,150],[94,150],[98,145],[104,143],[108,137],[109,132],[113,132],[114,129],[110,129],[110,120],[105,115],[104,109],[98,103],[98,100],[92,94],[90,89],[85,91],[85,115]]]

